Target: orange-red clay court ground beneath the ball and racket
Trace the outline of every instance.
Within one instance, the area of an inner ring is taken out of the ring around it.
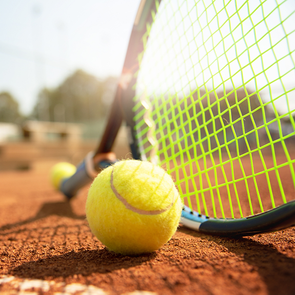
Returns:
[[[295,228],[228,239],[181,226],[151,254],[115,254],[87,226],[87,187],[71,202],[52,189],[55,163],[0,171],[1,294],[295,294]]]

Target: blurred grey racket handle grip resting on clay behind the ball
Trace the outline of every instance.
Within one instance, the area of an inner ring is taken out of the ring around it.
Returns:
[[[62,181],[60,191],[69,200],[76,195],[79,189],[91,183],[100,170],[114,163],[113,160],[103,158],[94,163],[93,155],[93,152],[88,153],[83,162],[77,166],[76,172]]]

